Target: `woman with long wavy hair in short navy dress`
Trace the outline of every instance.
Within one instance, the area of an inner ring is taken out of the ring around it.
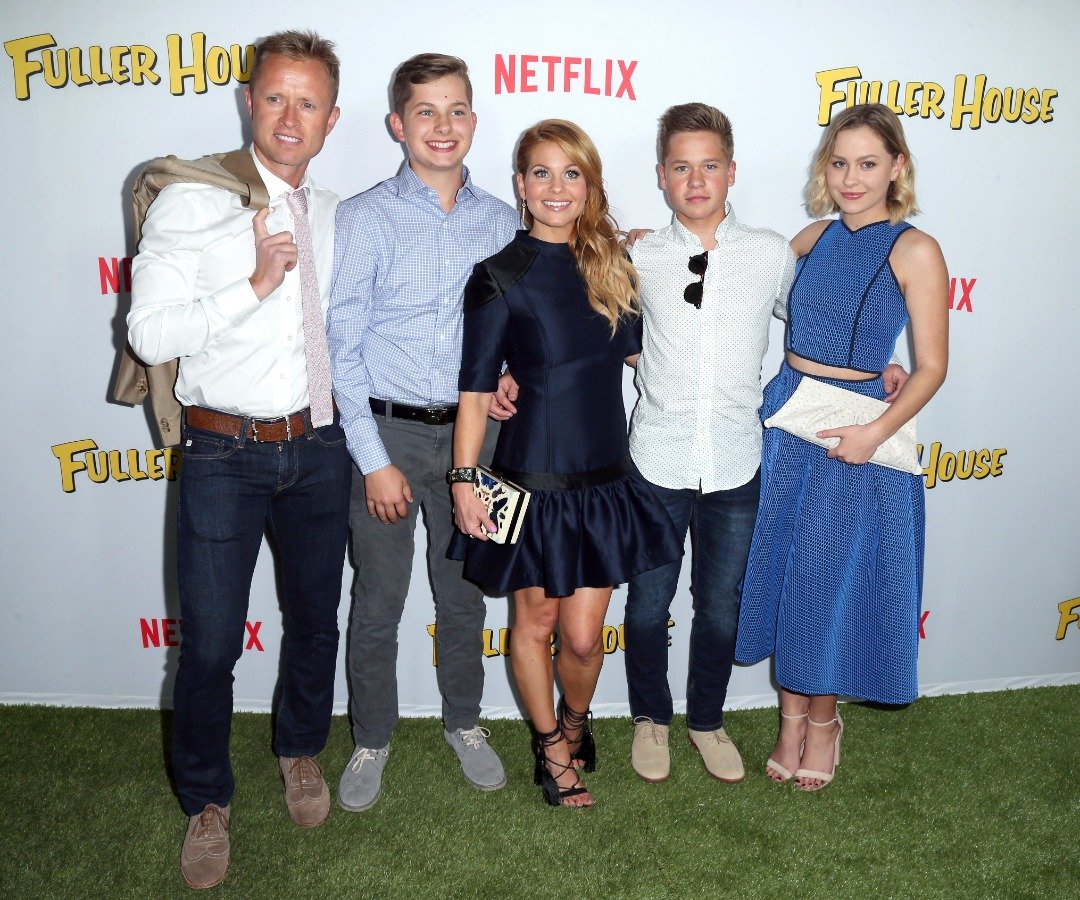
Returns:
[[[522,135],[515,169],[528,231],[477,265],[464,291],[450,475],[462,535],[450,552],[463,551],[468,578],[513,594],[510,660],[544,798],[589,806],[577,769],[596,763],[589,707],[612,587],[678,560],[683,541],[630,460],[622,380],[623,362],[640,352],[636,277],[608,215],[596,148],[572,122],[549,119]],[[471,484],[503,360],[517,413],[491,468],[532,495],[516,543],[487,539],[495,525]]]

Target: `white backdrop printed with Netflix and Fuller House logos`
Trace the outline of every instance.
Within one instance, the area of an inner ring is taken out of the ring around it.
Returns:
[[[893,105],[919,166],[916,224],[939,239],[953,276],[949,377],[919,422],[929,520],[922,689],[1080,682],[1077,4],[52,0],[0,12],[10,333],[0,358],[10,442],[0,701],[170,702],[183,460],[154,448],[141,408],[107,399],[131,303],[130,190],[153,157],[248,139],[248,44],[289,27],[338,43],[341,119],[311,171],[342,197],[400,165],[387,90],[394,66],[421,51],[471,66],[480,124],[469,165],[478,184],[513,201],[516,136],[541,118],[573,119],[600,149],[624,226],[667,221],[653,148],[657,117],[672,104],[704,100],[729,113],[734,209],[785,234],[807,223],[801,189],[829,116],[867,98]],[[779,325],[772,337],[767,378],[779,365]],[[406,714],[437,714],[419,545],[401,698]],[[347,570],[342,634],[350,581]],[[616,592],[604,633],[599,714],[627,709],[624,599]],[[488,715],[519,714],[508,612],[504,599],[488,607]],[[676,697],[689,617],[684,578],[671,624]],[[239,708],[268,708],[280,633],[265,548],[237,668]],[[774,703],[768,666],[737,668],[730,702]]]

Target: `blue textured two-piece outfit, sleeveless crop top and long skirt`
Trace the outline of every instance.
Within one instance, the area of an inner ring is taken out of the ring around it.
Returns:
[[[788,350],[868,376],[885,368],[907,323],[889,254],[908,228],[829,224],[796,267]],[[765,389],[761,418],[809,377],[784,363]],[[880,377],[820,380],[885,398]],[[777,681],[799,694],[913,701],[923,532],[920,476],[829,459],[823,447],[766,429],[735,658],[774,654]]]

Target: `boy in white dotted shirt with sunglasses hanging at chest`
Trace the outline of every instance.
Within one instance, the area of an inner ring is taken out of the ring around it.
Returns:
[[[739,587],[758,501],[761,360],[771,318],[786,317],[795,257],[775,231],[740,223],[728,118],[673,106],[660,119],[660,185],[675,215],[631,250],[640,277],[644,344],[630,449],[675,525],[692,540],[687,726],[706,770],[741,781],[724,729]],[[680,563],[635,577],[626,599],[632,762],[646,781],[671,770],[667,620]]]

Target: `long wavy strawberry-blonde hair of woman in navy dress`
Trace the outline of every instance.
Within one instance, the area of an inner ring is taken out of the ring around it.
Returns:
[[[569,246],[585,281],[589,305],[608,320],[615,334],[620,318],[637,312],[637,271],[619,243],[619,227],[608,212],[600,156],[589,135],[573,122],[544,119],[526,131],[517,143],[514,169],[522,178],[534,149],[549,140],[580,170],[589,188]],[[522,219],[526,228],[532,227],[527,206]]]

